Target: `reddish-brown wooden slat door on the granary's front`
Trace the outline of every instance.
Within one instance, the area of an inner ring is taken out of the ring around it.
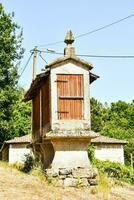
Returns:
[[[57,75],[58,119],[83,119],[83,75]]]

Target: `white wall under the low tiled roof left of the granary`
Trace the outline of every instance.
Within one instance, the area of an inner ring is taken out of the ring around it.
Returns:
[[[30,153],[26,148],[27,144],[10,144],[9,146],[9,163],[23,162],[25,155]]]

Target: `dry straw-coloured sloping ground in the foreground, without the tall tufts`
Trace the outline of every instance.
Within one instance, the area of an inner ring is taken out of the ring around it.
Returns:
[[[116,186],[109,197],[90,188],[59,188],[0,164],[0,200],[134,200],[133,186]]]

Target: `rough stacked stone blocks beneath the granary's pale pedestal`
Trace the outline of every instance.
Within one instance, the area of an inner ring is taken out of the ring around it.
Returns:
[[[97,172],[92,168],[60,168],[47,169],[46,177],[54,181],[55,186],[62,187],[89,187],[97,185]]]

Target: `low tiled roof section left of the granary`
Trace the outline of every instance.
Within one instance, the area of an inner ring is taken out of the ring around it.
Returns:
[[[7,140],[5,143],[12,144],[12,143],[30,143],[31,142],[31,134],[22,136],[22,137],[15,137],[14,139]]]

